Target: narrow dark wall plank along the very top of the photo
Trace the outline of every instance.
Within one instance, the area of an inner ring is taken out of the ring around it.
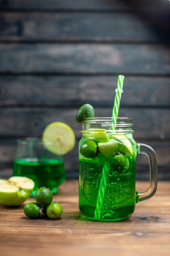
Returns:
[[[149,4],[148,4],[149,1]],[[132,11],[132,9],[142,9],[147,11],[157,11],[168,8],[166,0],[0,0],[2,10],[21,11]],[[162,8],[164,7],[164,8]]]

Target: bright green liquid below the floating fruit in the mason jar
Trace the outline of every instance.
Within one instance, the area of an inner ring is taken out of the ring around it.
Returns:
[[[84,141],[81,140],[80,147]],[[98,141],[95,142],[98,144]],[[131,216],[136,201],[135,154],[126,157],[129,168],[118,172],[111,166],[111,159],[106,159],[101,153],[91,159],[79,154],[79,209],[85,217],[118,221]],[[107,166],[105,184],[102,182],[104,165]],[[104,195],[101,195],[101,191]],[[98,210],[97,202],[100,202]],[[96,218],[95,211],[100,211],[99,218]]]

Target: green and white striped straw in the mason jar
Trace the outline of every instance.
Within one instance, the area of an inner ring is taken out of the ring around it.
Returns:
[[[124,76],[119,75],[118,76],[118,85],[115,90],[116,95],[115,95],[115,101],[114,101],[114,105],[113,105],[112,116],[111,116],[114,118],[113,124],[115,124],[115,125],[117,123],[120,99],[121,99],[121,94],[123,92],[123,83],[124,83]],[[111,130],[113,130],[113,129],[115,129],[115,128],[111,127]],[[107,164],[104,164],[104,166],[102,168],[102,177],[101,177],[102,186],[98,190],[96,209],[95,209],[95,213],[94,213],[94,218],[98,219],[98,220],[100,219],[100,216],[101,216],[101,209],[102,209],[103,199],[105,196],[105,189],[106,189],[106,182],[107,182],[107,170],[108,170],[108,166],[107,166]]]

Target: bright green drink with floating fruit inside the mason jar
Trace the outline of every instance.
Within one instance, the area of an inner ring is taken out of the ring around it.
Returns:
[[[85,134],[85,138],[83,137],[80,142],[80,211],[84,216],[92,219],[122,220],[128,218],[135,210],[135,152],[133,152],[135,141],[131,137],[130,142],[125,135],[122,135],[121,140],[108,135],[108,141],[100,142],[107,138],[106,134],[91,135]],[[98,153],[88,158],[84,156],[86,154],[82,148],[86,145],[87,151],[92,150],[92,145],[88,148],[91,140],[97,145]],[[129,143],[131,152],[126,147],[127,143]],[[125,152],[122,151],[123,149]],[[102,180],[103,166],[106,166],[105,183]],[[100,212],[100,216],[96,214],[96,211]]]

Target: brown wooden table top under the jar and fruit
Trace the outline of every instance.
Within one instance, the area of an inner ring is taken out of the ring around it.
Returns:
[[[144,191],[146,182],[137,182]],[[28,201],[34,201],[29,198]],[[54,195],[63,206],[58,220],[31,220],[23,204],[0,206],[0,252],[2,256],[170,256],[170,182],[159,182],[153,198],[136,205],[122,222],[98,222],[78,210],[78,181],[65,181]]]

